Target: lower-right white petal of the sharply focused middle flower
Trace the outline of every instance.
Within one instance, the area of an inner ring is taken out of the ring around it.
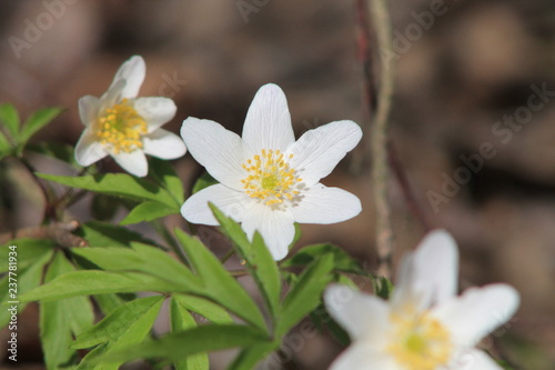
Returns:
[[[355,217],[362,211],[362,206],[361,200],[349,191],[316,183],[302,191],[302,199],[291,211],[295,222],[335,223]]]

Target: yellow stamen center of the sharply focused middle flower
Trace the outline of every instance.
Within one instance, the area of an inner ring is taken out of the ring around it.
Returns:
[[[290,154],[287,159],[293,158]],[[280,150],[262,149],[262,156],[254,156],[243,163],[248,176],[241,180],[245,192],[251,198],[256,198],[266,206],[283,203],[299,194],[294,186],[303,179],[296,171],[289,167],[284,154]]]

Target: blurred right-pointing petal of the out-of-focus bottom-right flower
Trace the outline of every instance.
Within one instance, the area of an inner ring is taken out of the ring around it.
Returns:
[[[513,317],[518,308],[518,292],[507,284],[467,289],[433,309],[460,346],[472,347]]]

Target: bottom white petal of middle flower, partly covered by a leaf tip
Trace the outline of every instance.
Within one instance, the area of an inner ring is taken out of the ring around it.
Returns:
[[[295,237],[293,216],[289,210],[273,210],[256,202],[249,204],[242,227],[250,240],[258,230],[276,261],[287,256]]]

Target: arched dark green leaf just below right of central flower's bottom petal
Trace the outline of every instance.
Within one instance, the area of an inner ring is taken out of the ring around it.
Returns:
[[[355,259],[349,256],[343,249],[327,243],[304,247],[293,257],[283,261],[280,266],[281,268],[306,266],[312,261],[317,260],[323,254],[333,256],[333,269],[335,271],[364,273],[364,270]]]

